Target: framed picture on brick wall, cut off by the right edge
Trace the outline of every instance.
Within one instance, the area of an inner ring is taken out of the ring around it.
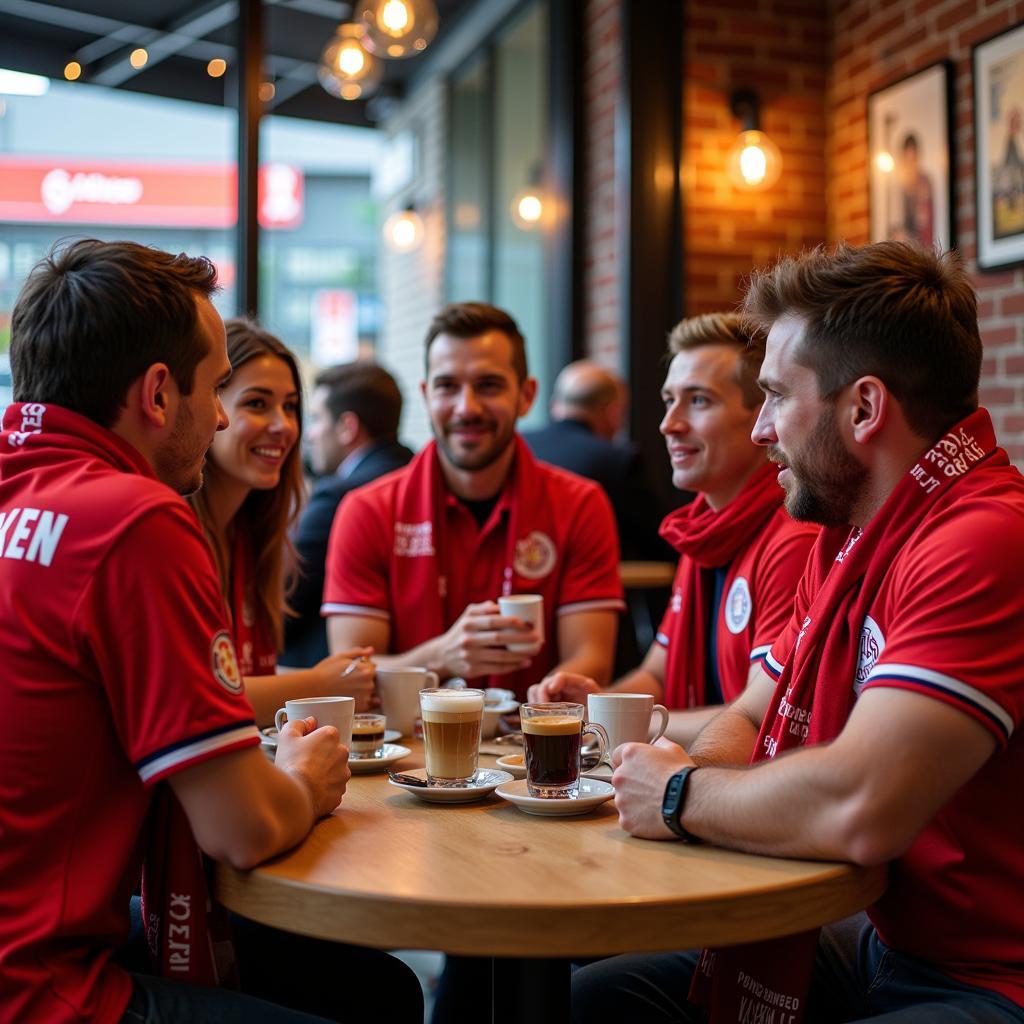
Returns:
[[[978,268],[1024,263],[1024,25],[972,50]]]

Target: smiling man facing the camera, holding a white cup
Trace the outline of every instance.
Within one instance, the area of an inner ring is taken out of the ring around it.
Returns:
[[[335,517],[322,609],[331,649],[357,642],[385,652],[381,666],[519,696],[556,666],[606,680],[624,607],[611,507],[517,436],[537,382],[515,321],[483,303],[447,306],[426,353],[434,441]],[[500,613],[496,598],[520,593],[543,596],[543,637]]]

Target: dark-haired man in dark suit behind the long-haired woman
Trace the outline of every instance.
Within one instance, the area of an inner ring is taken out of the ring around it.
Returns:
[[[309,463],[319,479],[295,534],[301,571],[288,603],[298,617],[285,621],[281,664],[307,668],[327,657],[327,631],[321,617],[324,560],[331,523],[349,490],[400,469],[413,453],[398,443],[401,392],[394,378],[372,362],[330,367],[313,379]]]

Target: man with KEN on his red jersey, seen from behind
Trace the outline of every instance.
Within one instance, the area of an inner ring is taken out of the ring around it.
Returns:
[[[0,432],[5,1021],[311,1019],[215,987],[229,943],[196,855],[249,867],[287,850],[349,778],[337,731],[312,719],[285,727],[276,766],[260,753],[180,497],[227,425],[214,290],[204,258],[85,240],[40,263],[14,306]],[[165,977],[116,956],[143,854]],[[282,948],[275,934],[262,932]]]

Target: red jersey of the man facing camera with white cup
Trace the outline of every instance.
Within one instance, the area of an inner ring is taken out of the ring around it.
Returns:
[[[544,597],[545,642],[540,654],[528,669],[495,677],[494,682],[524,697],[527,687],[558,664],[559,615],[625,608],[618,540],[608,499],[596,483],[530,458],[529,471],[537,474],[531,485],[540,496],[539,508],[531,509],[530,516],[544,528],[514,539],[513,564],[508,564],[509,486],[482,528],[469,509],[445,492],[445,544],[438,556],[433,534],[416,532],[429,523],[399,522],[396,529],[399,488],[412,469],[383,476],[342,500],[331,530],[322,613],[386,618],[391,625],[391,650],[400,652],[437,634],[424,630],[408,597],[403,602],[392,592],[395,560],[407,560],[414,571],[436,571],[442,630],[468,604],[496,601],[508,570],[510,593]]]

